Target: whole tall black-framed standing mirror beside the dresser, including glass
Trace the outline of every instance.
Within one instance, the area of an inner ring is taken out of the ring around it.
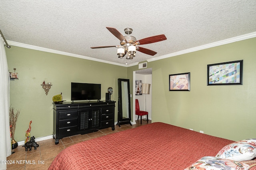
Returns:
[[[130,81],[118,78],[118,121],[117,124],[131,124]]]

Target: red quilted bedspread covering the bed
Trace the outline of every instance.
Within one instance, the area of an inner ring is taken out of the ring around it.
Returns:
[[[166,123],[125,130],[64,149],[49,170],[184,170],[234,141]]]

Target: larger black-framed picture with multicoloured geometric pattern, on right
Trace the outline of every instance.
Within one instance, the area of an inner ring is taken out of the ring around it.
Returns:
[[[207,65],[207,86],[242,85],[243,60]]]

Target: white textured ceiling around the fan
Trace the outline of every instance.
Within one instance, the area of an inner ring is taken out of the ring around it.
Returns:
[[[53,49],[125,64],[120,45],[106,29],[143,39],[164,34],[167,40],[140,45],[154,56],[137,51],[128,64],[230,39],[256,31],[256,0],[5,0],[0,2],[0,29],[8,42]]]

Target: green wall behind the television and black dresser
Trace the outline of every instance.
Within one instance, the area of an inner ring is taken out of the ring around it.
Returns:
[[[108,88],[113,88],[112,100],[118,101],[118,78],[127,78],[127,68],[58,55],[43,51],[12,46],[6,49],[8,68],[16,68],[18,80],[10,81],[10,105],[20,110],[15,140],[23,141],[31,124],[31,136],[45,137],[53,131],[52,97],[62,93],[63,100],[70,102],[71,82],[102,84],[102,100]],[[46,96],[41,84],[51,82]],[[117,104],[116,104],[117,121]]]

